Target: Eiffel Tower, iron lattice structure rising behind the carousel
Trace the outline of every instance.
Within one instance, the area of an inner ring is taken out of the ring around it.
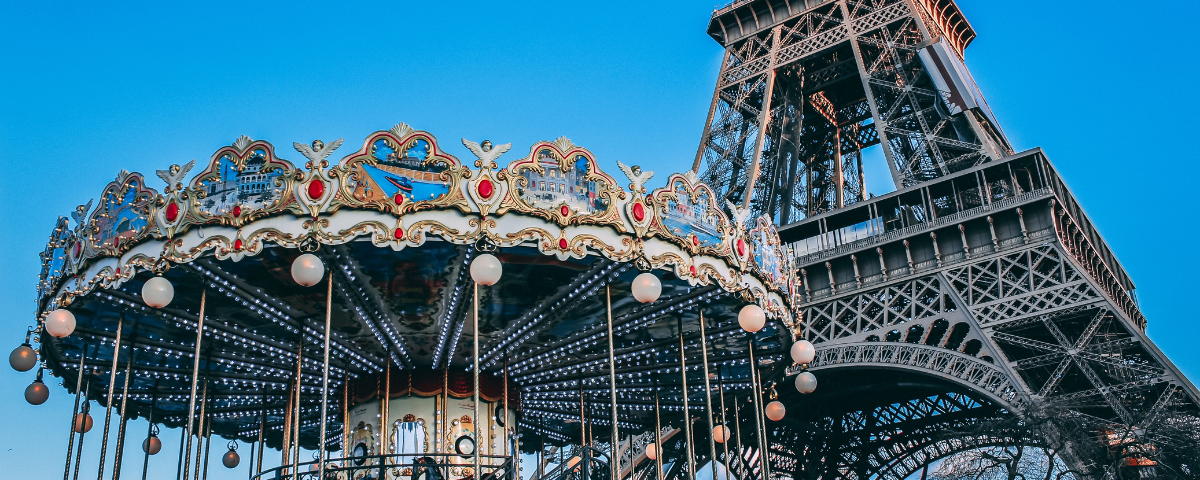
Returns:
[[[822,388],[780,389],[799,414],[768,432],[773,474],[1028,446],[1080,478],[1200,475],[1200,392],[1046,154],[1012,150],[953,0],[736,1],[708,34],[725,58],[692,169],[786,226],[817,347]],[[896,191],[868,197],[876,145]]]

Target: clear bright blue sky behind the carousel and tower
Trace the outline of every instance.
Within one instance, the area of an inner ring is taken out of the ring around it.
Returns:
[[[461,137],[511,142],[523,155],[566,136],[612,172],[617,160],[686,169],[720,64],[704,35],[714,1],[8,2],[0,350],[32,322],[38,253],[58,216],[122,168],[157,182],[155,169],[203,163],[240,134],[296,160],[292,142],[344,137],[353,149],[403,121],[461,157],[470,157]],[[1200,7],[960,5],[979,34],[966,62],[1014,146],[1046,150],[1136,282],[1150,336],[1200,379],[1200,138],[1187,120],[1200,109],[1192,38]],[[61,474],[71,398],[53,379],[49,402],[26,404],[32,377],[0,368],[0,476]],[[124,475],[137,478],[145,424],[130,428]],[[151,478],[174,473],[178,434],[163,436],[167,455],[151,460]],[[96,438],[84,475],[96,469]],[[214,463],[209,478],[240,479],[245,469]]]

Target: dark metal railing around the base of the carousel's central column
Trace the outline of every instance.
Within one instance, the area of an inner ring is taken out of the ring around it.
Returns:
[[[458,454],[367,455],[325,460],[323,480],[473,480],[473,457]],[[454,461],[454,462],[451,462]],[[457,462],[457,463],[456,463]],[[518,480],[512,457],[479,456],[479,480]],[[316,460],[280,466],[252,476],[252,480],[318,480]],[[464,472],[466,470],[466,472]]]

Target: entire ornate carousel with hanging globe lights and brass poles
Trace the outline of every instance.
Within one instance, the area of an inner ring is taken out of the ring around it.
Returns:
[[[214,449],[252,479],[769,479],[816,389],[770,220],[565,138],[462,143],[401,124],[301,168],[241,137],[59,218],[10,362],[74,397],[65,478],[91,448],[113,479]]]

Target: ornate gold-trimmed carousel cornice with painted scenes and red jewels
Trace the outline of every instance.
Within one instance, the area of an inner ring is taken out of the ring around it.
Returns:
[[[56,222],[38,278],[40,316],[96,288],[120,287],[138,271],[205,256],[241,260],[271,244],[350,241],[400,251],[440,240],[534,246],[559,260],[598,254],[670,270],[694,287],[740,293],[793,337],[798,332],[792,256],[775,226],[733,204],[725,205],[727,214],[692,172],[671,174],[647,191],[654,173],[618,162],[626,190],[565,138],[539,142],[503,168],[497,158],[510,144],[462,142],[476,157],[474,168],[444,152],[432,134],[400,124],[370,134],[336,164],[328,158],[341,139],[294,144],[307,158],[300,168],[270,143],[240,137],[191,180],[194,161],[158,170],[167,184],[162,193],[122,170],[94,211],[90,202],[76,209],[73,228],[65,217]],[[563,181],[551,191],[557,194],[541,194],[547,166],[558,166],[550,178],[578,175],[587,192],[568,192]],[[234,173],[238,182],[254,182],[230,187]],[[230,197],[230,188],[256,194]]]

